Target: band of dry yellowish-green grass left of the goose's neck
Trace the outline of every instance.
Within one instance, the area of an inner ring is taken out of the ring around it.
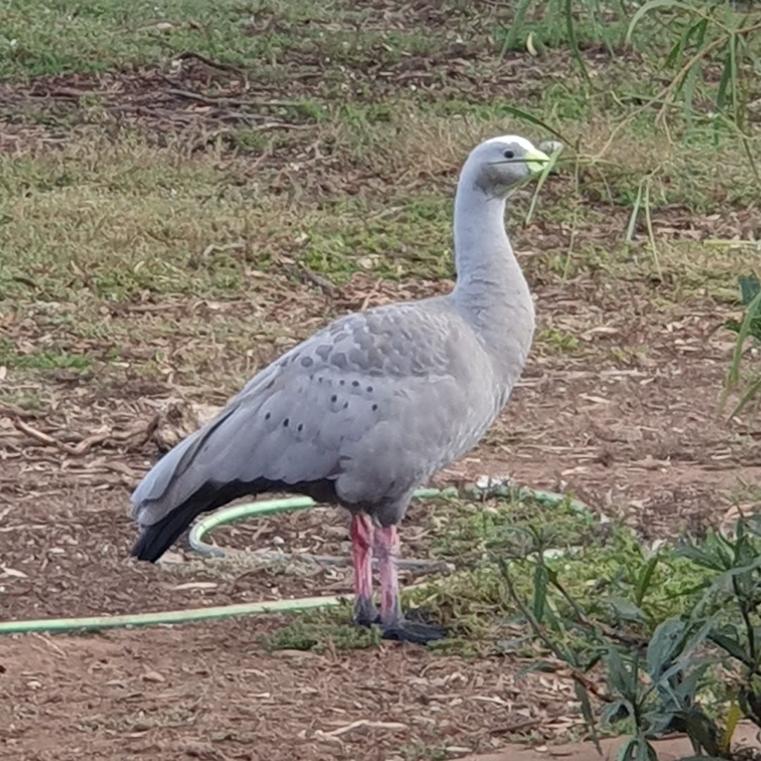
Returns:
[[[361,197],[301,208],[279,197],[256,202],[234,187],[236,169],[217,174],[213,165],[180,165],[145,146],[113,155],[107,145],[6,161],[0,282],[18,296],[31,282],[46,299],[145,291],[229,299],[245,292],[247,270],[295,254],[337,282],[359,270],[451,273],[448,198],[392,199],[393,218]]]

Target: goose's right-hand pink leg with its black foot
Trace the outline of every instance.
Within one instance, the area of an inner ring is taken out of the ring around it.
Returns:
[[[396,526],[375,529],[374,551],[380,570],[380,627],[384,638],[425,644],[444,637],[446,631],[443,628],[407,621],[403,616],[396,576],[396,557],[399,555]]]

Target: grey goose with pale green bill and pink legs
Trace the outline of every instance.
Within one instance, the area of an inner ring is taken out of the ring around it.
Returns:
[[[533,302],[505,199],[548,160],[518,136],[473,149],[454,204],[454,290],[346,315],[261,370],[135,489],[132,555],[156,561],[199,513],[237,497],[309,494],[352,514],[355,621],[390,639],[440,638],[403,616],[396,525],[412,492],[478,443],[521,374]]]

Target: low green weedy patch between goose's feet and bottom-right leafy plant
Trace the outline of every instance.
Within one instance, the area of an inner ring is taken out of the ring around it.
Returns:
[[[495,615],[505,622],[515,616],[498,558],[509,562],[517,590],[524,596],[530,596],[533,589],[536,553],[541,551],[568,592],[600,619],[616,622],[615,601],[633,602],[635,580],[649,554],[629,529],[579,516],[570,503],[543,507],[530,500],[490,500],[486,505],[454,507],[452,521],[435,523],[440,539],[434,546],[442,557],[471,567],[411,592],[409,597],[423,608],[437,610],[444,619],[456,621],[460,634],[483,634]],[[705,577],[668,549],[661,552],[655,573],[651,595],[642,603],[653,624],[689,610],[696,599],[693,590]],[[559,605],[564,607],[562,601]],[[565,613],[569,612],[566,607]],[[491,635],[489,641],[494,641]]]

